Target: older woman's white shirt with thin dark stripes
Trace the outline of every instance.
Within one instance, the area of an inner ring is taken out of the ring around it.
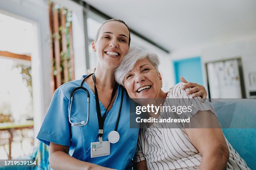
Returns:
[[[192,98],[192,95],[186,94],[188,89],[181,89],[183,85],[179,83],[170,88],[167,98]],[[193,114],[199,110],[214,112],[206,102],[193,103],[193,107]],[[154,124],[150,127],[152,128],[140,129],[136,162],[146,160],[148,169],[199,169],[202,156],[191,143],[184,128],[156,128]],[[250,169],[227,139],[226,143],[229,148],[227,169]]]

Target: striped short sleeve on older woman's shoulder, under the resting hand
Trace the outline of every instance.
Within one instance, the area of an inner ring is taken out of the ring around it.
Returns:
[[[201,97],[192,97],[192,94],[187,94],[191,88],[182,89],[185,83],[178,83],[173,88],[170,88],[167,98],[173,98],[176,105],[192,106],[192,112],[187,112],[187,117],[192,117],[198,111],[210,110],[215,114],[213,107],[207,102],[201,102]]]

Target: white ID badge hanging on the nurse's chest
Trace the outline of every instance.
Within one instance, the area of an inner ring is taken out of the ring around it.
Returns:
[[[91,143],[91,157],[99,157],[110,155],[110,142],[103,141]]]

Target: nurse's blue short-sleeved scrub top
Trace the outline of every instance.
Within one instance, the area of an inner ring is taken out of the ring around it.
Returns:
[[[130,121],[130,99],[124,91],[122,111],[117,131],[120,139],[117,143],[110,144],[110,155],[91,158],[91,142],[97,142],[99,124],[96,111],[95,94],[87,82],[83,87],[90,93],[89,121],[82,127],[71,126],[68,121],[70,107],[70,95],[75,87],[79,87],[81,80],[71,81],[61,85],[55,90],[51,104],[44,118],[37,138],[49,145],[49,142],[69,146],[69,155],[101,166],[125,169],[131,165],[131,160],[136,152],[138,129],[129,127]],[[118,87],[117,97],[104,123],[103,141],[108,140],[108,134],[115,129],[119,106],[121,102],[121,85]],[[100,102],[102,116],[106,108]],[[75,92],[72,101],[70,119],[73,123],[87,120],[87,94],[79,90]]]

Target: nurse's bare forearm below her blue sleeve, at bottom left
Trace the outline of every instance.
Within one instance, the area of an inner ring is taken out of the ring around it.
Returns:
[[[49,162],[53,169],[104,169],[111,168],[103,167],[97,164],[78,160],[68,154],[69,147],[50,142]]]

